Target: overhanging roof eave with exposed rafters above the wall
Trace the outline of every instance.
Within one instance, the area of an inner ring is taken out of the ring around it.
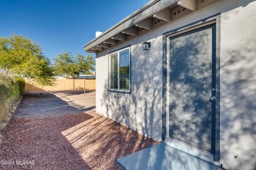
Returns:
[[[215,1],[152,0],[85,44],[84,50],[98,53]]]

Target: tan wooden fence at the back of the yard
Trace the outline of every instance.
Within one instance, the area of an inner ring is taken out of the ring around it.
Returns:
[[[25,79],[26,91],[65,91],[73,90],[75,81],[75,90],[84,90],[84,79],[56,79],[53,86],[40,86],[32,79]],[[85,79],[85,89],[95,90],[95,79]]]

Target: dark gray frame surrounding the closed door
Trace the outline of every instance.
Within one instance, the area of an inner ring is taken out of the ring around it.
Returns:
[[[212,155],[215,157],[215,161],[219,162],[220,160],[220,16],[216,14],[214,16],[210,16],[209,18],[197,21],[195,23],[191,23],[189,25],[185,25],[184,27],[166,32],[163,34],[163,131],[162,131],[162,140],[169,139],[169,104],[170,104],[170,37],[180,35],[182,33],[186,33],[192,30],[196,30],[202,27],[206,27],[208,25],[215,24],[212,27],[212,31],[214,31],[215,38],[213,38],[213,43],[215,40],[215,46],[212,47],[212,54],[215,55],[215,84],[216,84],[216,102],[215,102],[215,115],[213,118],[213,128],[212,134],[215,133],[215,136],[212,140],[212,145],[215,148],[215,154],[210,151],[206,151],[204,149],[200,149],[196,146],[189,145],[187,142],[179,141],[180,143],[184,143],[185,145],[195,148],[199,151],[204,152],[207,155]],[[214,49],[215,47],[215,49]],[[212,61],[213,63],[213,61]],[[212,69],[213,65],[212,65]],[[215,122],[215,123],[214,123]],[[215,127],[214,127],[215,126]]]

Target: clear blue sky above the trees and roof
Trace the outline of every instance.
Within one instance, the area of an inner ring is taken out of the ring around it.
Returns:
[[[107,30],[148,1],[1,0],[0,36],[26,36],[51,59],[63,51],[85,54],[83,45],[96,31]]]

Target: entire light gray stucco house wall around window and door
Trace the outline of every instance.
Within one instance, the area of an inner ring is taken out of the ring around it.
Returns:
[[[97,54],[96,110],[157,140],[162,136],[162,34],[220,14],[220,159],[255,169],[256,2],[223,0]],[[218,28],[218,27],[217,27]],[[141,43],[151,42],[148,52]],[[131,45],[131,94],[108,92],[108,53]],[[235,158],[238,156],[238,159]]]

